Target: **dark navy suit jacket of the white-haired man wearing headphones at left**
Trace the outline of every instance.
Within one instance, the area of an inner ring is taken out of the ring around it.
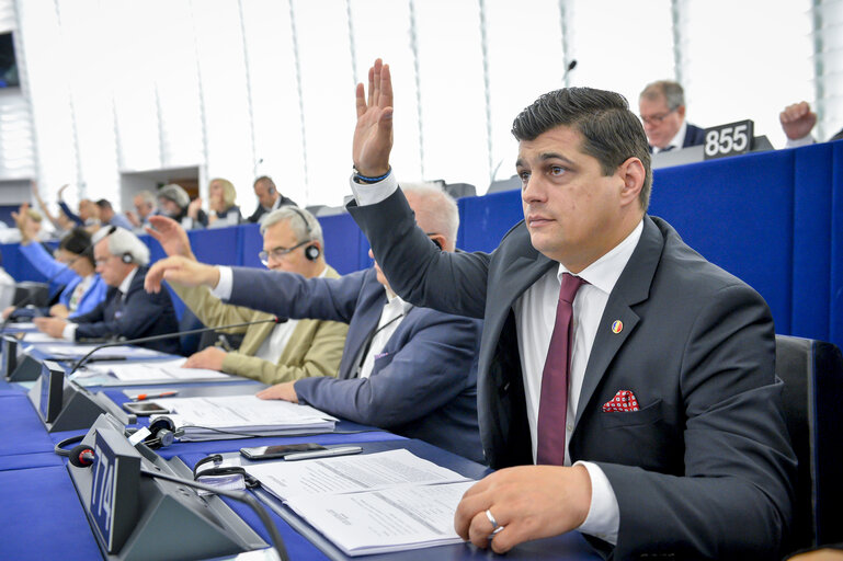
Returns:
[[[125,295],[121,296],[117,288],[110,287],[107,297],[96,308],[73,318],[78,323],[76,340],[117,336],[140,339],[179,331],[170,291],[149,294],[144,290],[147,271],[148,267],[138,267]],[[138,346],[162,353],[180,353],[179,337],[141,343]]]

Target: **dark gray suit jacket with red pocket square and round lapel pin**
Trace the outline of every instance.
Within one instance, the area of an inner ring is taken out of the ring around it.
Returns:
[[[400,190],[349,209],[399,295],[485,319],[483,448],[493,468],[532,463],[512,306],[558,263],[533,248],[523,222],[491,254],[443,254],[415,228]],[[617,334],[615,320],[624,324]],[[774,360],[761,296],[667,222],[645,217],[601,320],[569,445],[572,461],[600,465],[617,496],[615,557],[776,558],[790,524],[796,460]],[[604,413],[619,390],[631,390],[641,409]]]

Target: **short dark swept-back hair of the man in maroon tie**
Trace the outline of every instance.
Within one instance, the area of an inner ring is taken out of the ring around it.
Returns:
[[[638,158],[646,171],[638,196],[646,211],[650,204],[652,168],[643,126],[619,93],[593,88],[565,88],[542,95],[515,117],[516,139],[535,140],[560,125],[576,127],[583,136],[582,151],[597,159],[604,175],[612,175],[629,158]]]

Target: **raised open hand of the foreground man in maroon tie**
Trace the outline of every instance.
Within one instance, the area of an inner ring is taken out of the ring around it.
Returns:
[[[354,128],[352,157],[354,167],[368,178],[389,171],[392,150],[392,79],[389,65],[378,58],[368,69],[368,96],[357,84],[357,126]]]

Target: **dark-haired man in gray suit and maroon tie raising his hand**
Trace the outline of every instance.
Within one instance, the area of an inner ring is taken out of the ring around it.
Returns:
[[[651,157],[623,95],[566,88],[524,108],[524,221],[491,253],[443,253],[389,164],[389,67],[368,82],[349,211],[397,294],[483,318],[478,414],[498,471],[463,496],[457,533],[495,552],[579,529],[614,559],[781,559],[796,457],[773,317],[647,214]]]

